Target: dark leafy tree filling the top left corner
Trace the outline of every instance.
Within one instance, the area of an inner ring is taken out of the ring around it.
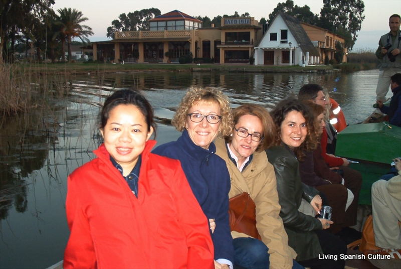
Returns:
[[[0,2],[0,61],[6,44],[14,50],[15,42],[21,31],[26,29],[35,18],[47,13],[54,0],[2,0]]]

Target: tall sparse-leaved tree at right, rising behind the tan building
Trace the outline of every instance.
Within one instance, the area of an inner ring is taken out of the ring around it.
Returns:
[[[334,33],[341,28],[346,29],[352,36],[347,47],[352,49],[358,36],[356,33],[361,29],[362,21],[365,19],[364,10],[365,4],[362,0],[323,0],[317,26]]]

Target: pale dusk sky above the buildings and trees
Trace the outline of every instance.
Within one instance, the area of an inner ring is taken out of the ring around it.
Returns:
[[[308,5],[315,14],[320,13],[323,0],[293,0],[294,5]],[[118,20],[122,13],[128,14],[142,9],[157,8],[161,14],[179,10],[190,16],[208,16],[213,19],[220,15],[233,15],[236,11],[241,15],[248,12],[251,17],[260,20],[269,14],[280,2],[285,0],[55,0],[54,10],[73,8],[81,11],[89,20],[85,25],[92,28],[94,35],[91,41],[109,40],[106,37],[107,27],[113,20]],[[353,51],[372,50],[378,47],[381,35],[389,32],[388,18],[394,12],[400,12],[399,0],[364,0],[365,19],[354,45]],[[398,7],[398,8],[396,8]]]

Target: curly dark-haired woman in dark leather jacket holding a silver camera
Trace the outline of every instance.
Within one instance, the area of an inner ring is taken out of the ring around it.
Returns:
[[[280,102],[271,115],[277,128],[276,146],[266,153],[276,173],[280,217],[288,234],[288,245],[297,252],[298,263],[305,267],[344,268],[341,254],[346,254],[345,242],[323,231],[333,222],[299,211],[303,199],[316,214],[322,205],[319,191],[301,182],[298,163],[304,150],[317,146],[315,117],[296,99]]]

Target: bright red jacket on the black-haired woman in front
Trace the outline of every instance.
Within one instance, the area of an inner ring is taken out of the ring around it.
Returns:
[[[138,198],[104,145],[68,177],[64,268],[215,268],[208,219],[179,161],[142,152]]]

